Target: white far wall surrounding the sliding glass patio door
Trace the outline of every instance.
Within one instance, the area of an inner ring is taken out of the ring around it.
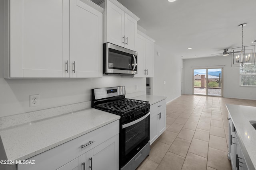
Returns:
[[[210,68],[211,66],[224,65],[223,82],[225,98],[256,100],[256,87],[240,86],[239,67],[231,67],[231,55],[204,57],[184,60],[184,94],[192,94],[193,68]],[[221,66],[220,66],[221,67]]]

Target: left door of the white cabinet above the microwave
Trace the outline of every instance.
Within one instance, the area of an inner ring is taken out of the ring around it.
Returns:
[[[124,47],[124,11],[109,0],[106,3],[107,42]]]

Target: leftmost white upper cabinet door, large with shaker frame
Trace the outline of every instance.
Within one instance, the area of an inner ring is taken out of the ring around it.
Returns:
[[[10,77],[69,77],[69,2],[10,0]]]

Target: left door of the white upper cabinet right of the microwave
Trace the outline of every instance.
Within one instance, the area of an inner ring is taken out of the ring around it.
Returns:
[[[137,51],[138,73],[134,77],[145,77],[145,38],[142,35],[137,34],[135,51]]]

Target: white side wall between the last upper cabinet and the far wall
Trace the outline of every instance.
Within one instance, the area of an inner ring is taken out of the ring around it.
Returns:
[[[160,56],[157,55],[160,53]],[[170,51],[154,45],[153,95],[166,96],[169,102],[181,95],[180,68],[182,59]],[[166,84],[164,84],[164,81]]]

